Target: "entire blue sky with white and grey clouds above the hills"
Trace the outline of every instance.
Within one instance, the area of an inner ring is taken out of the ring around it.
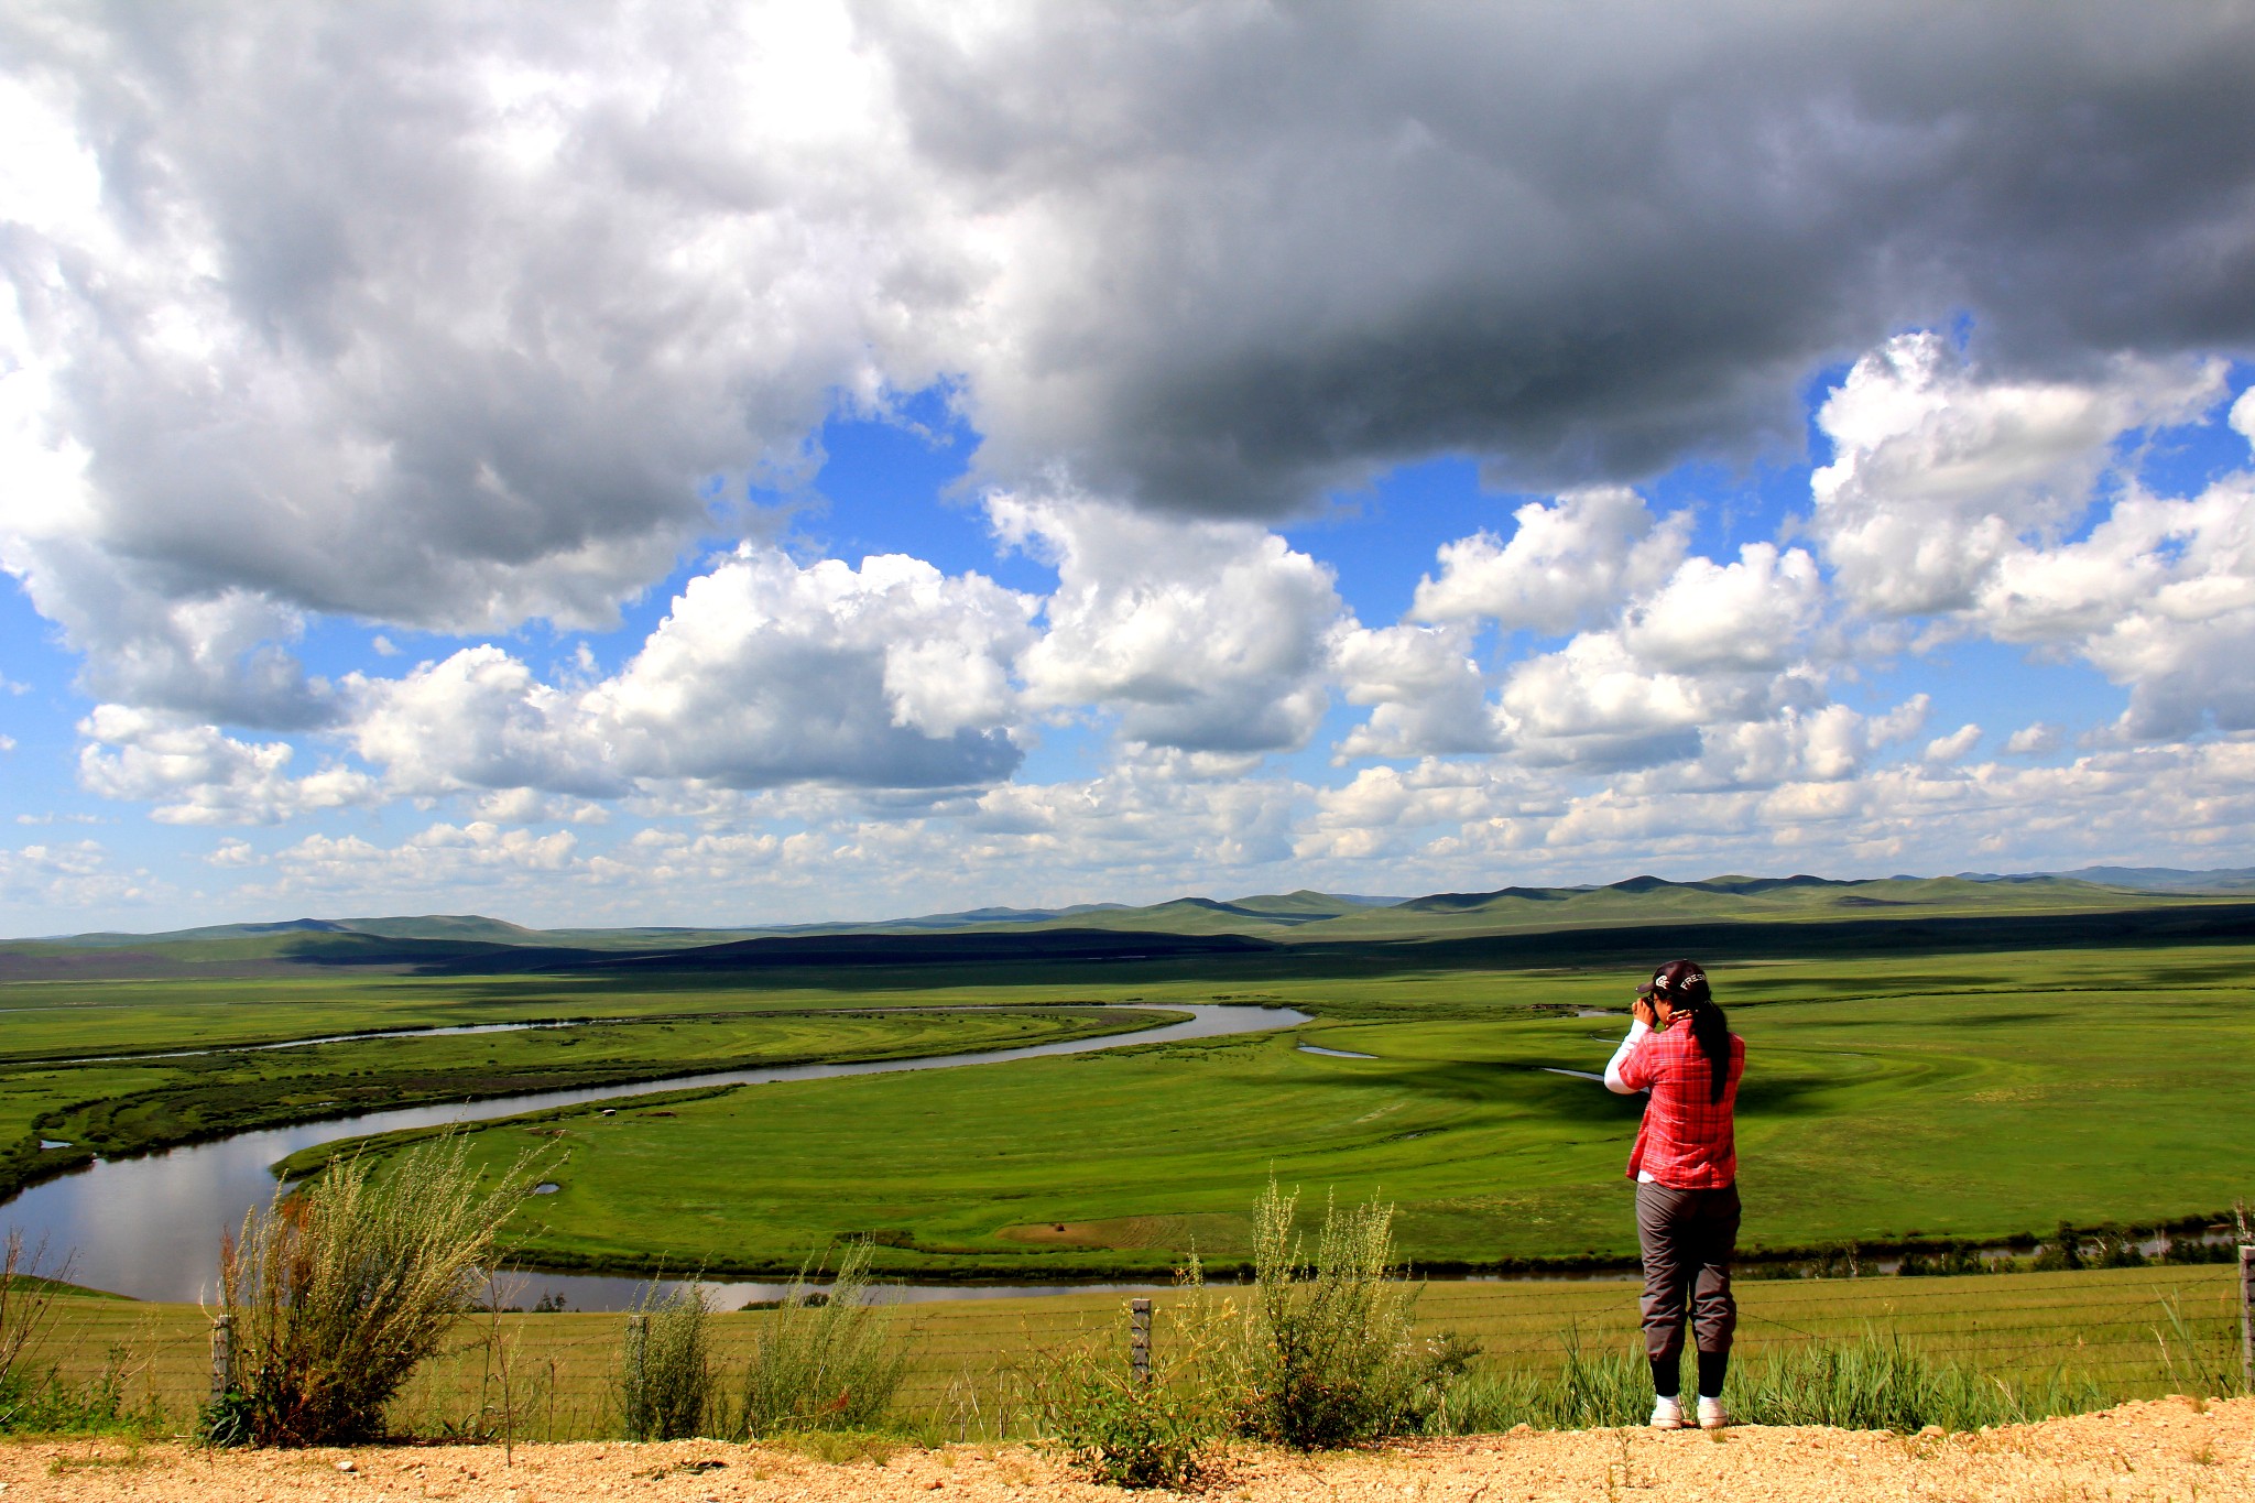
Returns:
[[[2255,863],[2255,9],[0,14],[0,933]]]

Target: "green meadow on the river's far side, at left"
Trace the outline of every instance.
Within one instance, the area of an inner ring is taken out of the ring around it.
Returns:
[[[875,1012],[864,996],[514,978],[149,978],[14,982],[0,994],[9,1007],[0,1034],[0,1194],[95,1154],[142,1154],[379,1106],[1012,1048],[1155,1023],[1148,1012]],[[911,998],[918,1007],[949,1000]],[[539,1021],[580,1025],[259,1048]]]

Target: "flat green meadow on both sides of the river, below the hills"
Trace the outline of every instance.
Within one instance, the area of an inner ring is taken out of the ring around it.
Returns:
[[[1578,942],[1590,937],[1601,935]],[[2214,1215],[2255,1185],[2217,1138],[2255,1104],[2255,1023],[2239,1007],[2255,946],[1903,949],[1712,967],[1754,1059],[1741,1102],[1748,1248],[2045,1237],[2063,1219],[2154,1226]],[[859,971],[828,985],[663,971],[16,980],[0,985],[0,1142],[14,1140],[0,1174],[365,1104],[954,1052],[1150,1021],[1105,1014],[1105,1003],[1276,1003],[1317,1021],[735,1088],[670,1104],[667,1118],[580,1109],[489,1127],[480,1151],[514,1156],[528,1127],[555,1149],[561,1190],[512,1228],[521,1257],[555,1269],[787,1273],[866,1233],[888,1275],[1148,1278],[1193,1248],[1238,1257],[1243,1208],[1270,1172],[1317,1197],[1398,1203],[1400,1248],[1421,1266],[1633,1253],[1619,1165],[1635,1104],[1551,1073],[1603,1066],[1633,969],[1258,982],[1236,980],[1243,962],[1224,958],[1114,964],[1103,980],[1087,969]],[[1576,1016],[1592,1012],[1603,1016]],[[602,1021],[241,1048],[555,1019]],[[180,1048],[216,1052],[153,1057]],[[83,1055],[110,1059],[70,1064]],[[72,1147],[41,1149],[41,1138]]]

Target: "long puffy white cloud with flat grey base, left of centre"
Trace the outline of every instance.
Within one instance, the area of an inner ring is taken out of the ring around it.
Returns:
[[[1008,660],[1033,608],[920,559],[798,566],[746,543],[690,579],[611,678],[548,685],[501,647],[469,647],[352,678],[352,739],[401,791],[431,793],[983,784],[1022,755]]]

